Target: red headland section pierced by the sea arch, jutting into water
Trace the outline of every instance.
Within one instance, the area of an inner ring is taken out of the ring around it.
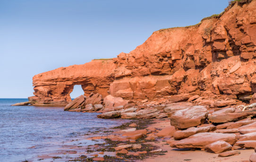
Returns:
[[[37,104],[66,105],[71,101],[74,85],[81,85],[85,95],[90,93],[108,95],[114,80],[113,60],[92,60],[83,65],[57,68],[33,77],[34,96],[30,101]]]

